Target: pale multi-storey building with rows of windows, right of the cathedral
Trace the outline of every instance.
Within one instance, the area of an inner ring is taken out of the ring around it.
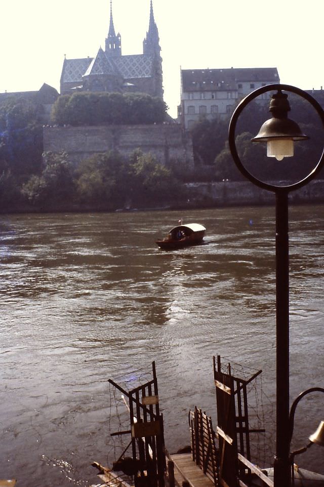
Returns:
[[[277,68],[182,69],[178,117],[188,129],[201,117],[229,117],[241,98],[279,82]],[[268,100],[269,92],[263,98]]]

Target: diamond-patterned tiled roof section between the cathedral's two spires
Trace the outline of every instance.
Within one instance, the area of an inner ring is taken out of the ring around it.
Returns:
[[[153,58],[143,54],[115,56],[113,59],[124,78],[148,78],[152,76]]]

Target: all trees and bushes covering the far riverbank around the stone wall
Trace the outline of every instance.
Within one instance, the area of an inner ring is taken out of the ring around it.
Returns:
[[[251,103],[237,127],[236,147],[249,172],[263,181],[303,179],[322,151],[317,114],[291,97],[292,118],[310,141],[296,143],[295,155],[278,163],[266,157],[262,144],[251,144],[268,110]],[[323,100],[320,100],[323,102]],[[322,103],[323,104],[323,103]],[[99,110],[100,108],[100,110]],[[51,123],[75,126],[118,124],[125,120],[148,126],[168,121],[167,106],[147,95],[75,93],[60,96]],[[292,110],[293,112],[293,110]],[[201,117],[190,130],[193,167],[181,157],[163,164],[149,152],[93,153],[77,163],[62,152],[44,152],[42,116],[32,101],[12,97],[0,104],[0,211],[131,211],[272,204],[273,195],[253,188],[238,172],[228,148],[229,119]],[[173,121],[175,122],[175,121]],[[249,132],[246,130],[249,127]],[[316,128],[317,127],[317,128]],[[324,202],[324,172],[299,192],[293,204]]]

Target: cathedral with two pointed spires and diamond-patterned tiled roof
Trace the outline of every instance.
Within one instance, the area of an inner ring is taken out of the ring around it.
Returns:
[[[61,95],[75,91],[146,93],[163,98],[162,59],[159,37],[150,0],[149,26],[143,40],[143,54],[123,56],[121,36],[115,33],[110,0],[109,31],[105,50],[94,58],[64,59]]]

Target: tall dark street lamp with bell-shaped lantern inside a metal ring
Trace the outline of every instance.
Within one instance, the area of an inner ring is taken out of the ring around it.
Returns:
[[[287,116],[290,110],[288,95],[291,92],[308,101],[316,110],[324,126],[324,112],[308,93],[291,85],[271,84],[250,93],[236,107],[229,124],[228,142],[232,158],[240,172],[259,188],[275,194],[276,215],[276,453],[274,457],[274,486],[291,484],[290,430],[289,430],[289,236],[288,195],[312,180],[324,164],[324,150],[314,168],[302,180],[287,186],[261,181],[242,164],[235,145],[236,123],[242,110],[264,93],[276,92],[269,111],[272,118],[261,127],[253,142],[266,142],[267,155],[282,160],[293,155],[294,141],[306,140],[298,124]]]

